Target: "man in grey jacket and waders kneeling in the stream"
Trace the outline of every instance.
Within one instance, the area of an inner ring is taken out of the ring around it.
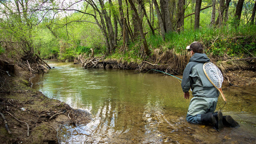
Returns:
[[[186,49],[191,58],[184,69],[181,86],[185,99],[189,99],[189,89],[192,89],[193,95],[186,120],[193,124],[212,124],[216,130],[224,126],[236,127],[238,123],[230,115],[223,116],[221,112],[214,112],[219,92],[204,74],[203,65],[210,59],[203,53],[202,44],[193,42]]]

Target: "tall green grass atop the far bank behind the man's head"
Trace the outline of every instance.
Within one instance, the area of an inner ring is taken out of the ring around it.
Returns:
[[[180,34],[166,34],[166,41],[160,36],[148,36],[148,45],[152,49],[175,49],[175,52],[186,53],[186,46],[193,41],[203,44],[204,51],[212,57],[256,57],[256,26],[240,26],[234,30],[231,26],[205,28],[198,31],[187,30]]]

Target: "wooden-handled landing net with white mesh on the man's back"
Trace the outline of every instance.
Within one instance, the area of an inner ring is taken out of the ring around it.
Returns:
[[[213,86],[215,86],[218,89],[218,91],[221,93],[223,100],[227,102],[221,89],[222,82],[223,82],[223,75],[221,73],[221,70],[218,69],[217,66],[215,66],[213,63],[210,63],[210,62],[204,63],[203,69],[208,80],[212,83]]]

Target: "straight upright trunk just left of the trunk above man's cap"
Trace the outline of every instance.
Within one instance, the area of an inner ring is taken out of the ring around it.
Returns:
[[[177,20],[177,32],[184,30],[184,14],[185,14],[185,0],[179,0],[178,2],[178,20]]]

